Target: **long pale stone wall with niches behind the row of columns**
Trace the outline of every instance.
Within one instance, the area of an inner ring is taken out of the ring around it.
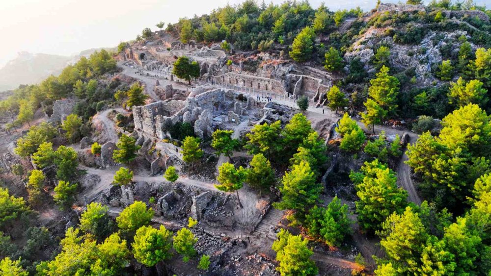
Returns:
[[[215,76],[215,81],[219,84],[236,85],[240,87],[254,88],[255,90],[271,91],[281,96],[286,95],[283,83],[272,78],[242,75],[237,73],[225,73]]]

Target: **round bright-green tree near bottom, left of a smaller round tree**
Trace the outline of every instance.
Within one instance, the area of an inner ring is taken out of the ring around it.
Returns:
[[[172,232],[160,226],[155,229],[152,226],[141,226],[136,230],[135,242],[132,243],[136,261],[153,267],[158,262],[171,257],[170,249]]]

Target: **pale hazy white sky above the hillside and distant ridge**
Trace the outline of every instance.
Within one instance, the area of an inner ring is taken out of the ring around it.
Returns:
[[[321,1],[309,0],[314,8]],[[175,23],[227,2],[242,0],[0,0],[0,67],[19,51],[72,55],[90,48],[115,47],[120,41],[134,39],[145,27],[155,30],[160,21]],[[368,10],[375,2],[326,0],[326,5],[331,10],[355,6]]]

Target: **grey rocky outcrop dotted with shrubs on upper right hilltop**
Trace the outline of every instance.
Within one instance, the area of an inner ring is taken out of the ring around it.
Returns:
[[[442,60],[457,56],[463,38],[474,50],[486,47],[471,39],[470,32],[478,30],[466,19],[489,22],[481,11],[441,13],[443,19],[436,20],[436,12],[423,5],[381,4],[376,12],[359,19],[364,27],[344,57],[348,62],[359,58],[365,70],[373,75],[374,55],[381,46],[386,46],[390,49],[393,73],[413,71],[417,86],[438,85],[441,81],[432,73]]]

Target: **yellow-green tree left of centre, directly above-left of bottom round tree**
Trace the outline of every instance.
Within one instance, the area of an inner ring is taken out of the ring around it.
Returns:
[[[135,201],[126,207],[116,218],[118,227],[127,231],[135,231],[141,226],[147,225],[154,215],[152,208],[142,201]]]

